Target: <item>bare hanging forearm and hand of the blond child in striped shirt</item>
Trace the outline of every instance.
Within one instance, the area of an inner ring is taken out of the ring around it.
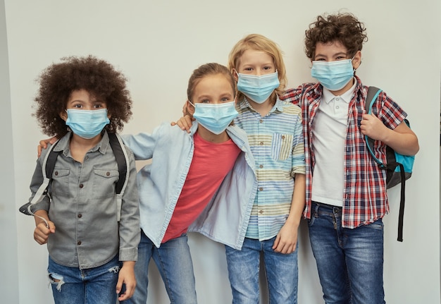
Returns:
[[[276,253],[290,254],[297,247],[297,231],[305,207],[306,179],[304,174],[296,174],[290,214],[275,237],[273,250]]]

